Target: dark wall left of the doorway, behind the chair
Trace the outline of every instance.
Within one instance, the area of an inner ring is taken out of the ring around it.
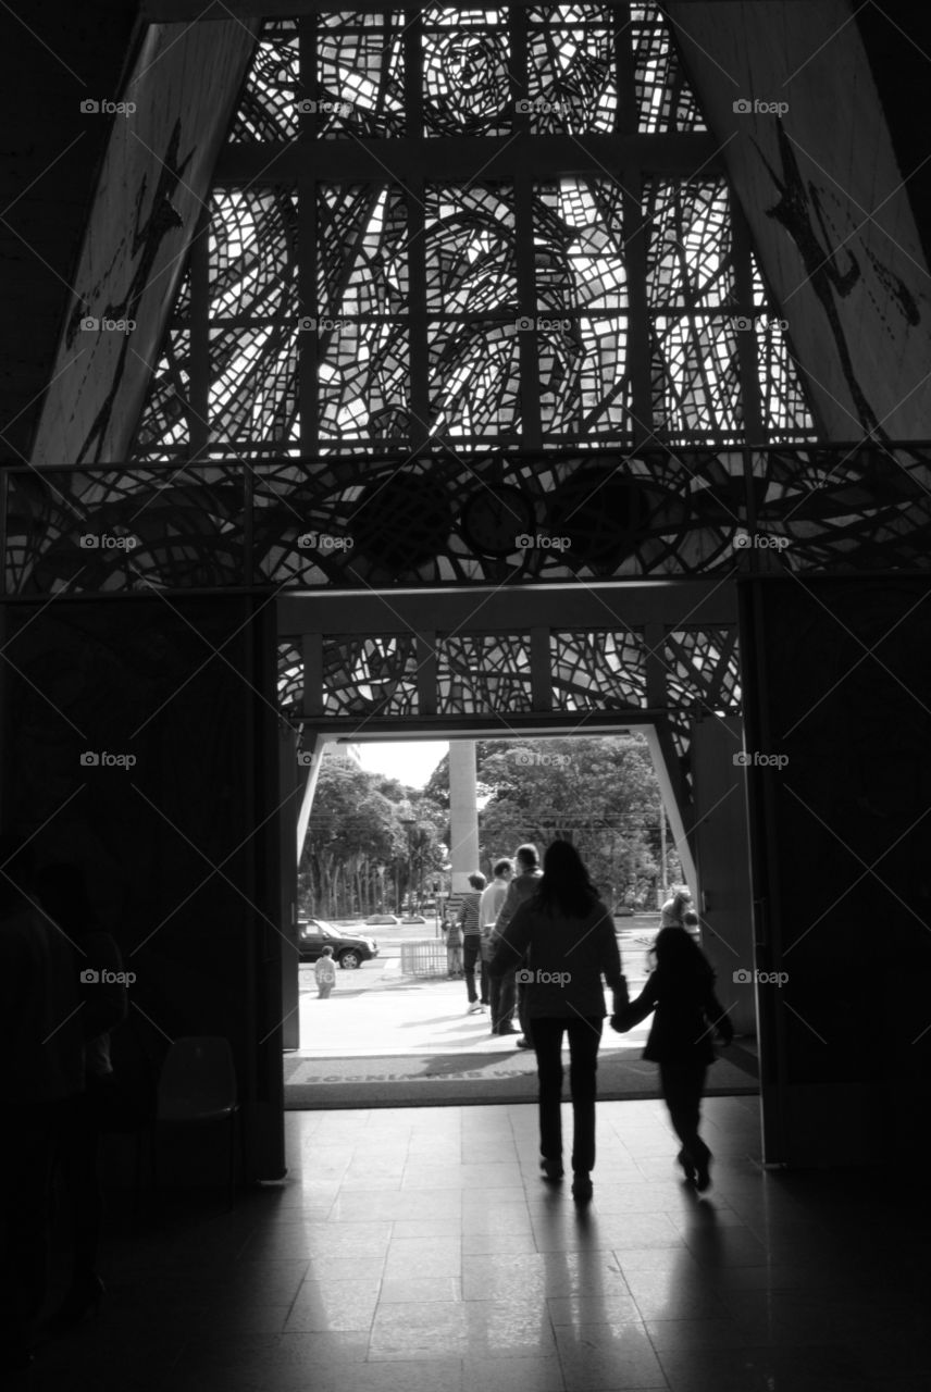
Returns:
[[[85,867],[99,919],[136,973],[114,1052],[157,1065],[171,1038],[228,1036],[250,1168],[274,1178],[281,938],[269,612],[242,597],[7,606],[1,696],[4,827],[36,832],[40,863]],[[88,752],[100,763],[82,761]],[[113,756],[135,764],[107,766]]]

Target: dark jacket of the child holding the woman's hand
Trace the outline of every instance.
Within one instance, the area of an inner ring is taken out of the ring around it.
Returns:
[[[651,1011],[655,1019],[643,1057],[657,1063],[714,1063],[714,1034],[725,1044],[733,1038],[733,1026],[714,994],[713,972],[683,977],[657,967],[636,1001],[618,1012],[616,1027],[630,1030]]]

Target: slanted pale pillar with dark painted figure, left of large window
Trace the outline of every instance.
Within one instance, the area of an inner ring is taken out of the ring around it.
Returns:
[[[127,457],[257,26],[154,25],[125,86],[100,93],[122,110],[110,116],[33,465]]]

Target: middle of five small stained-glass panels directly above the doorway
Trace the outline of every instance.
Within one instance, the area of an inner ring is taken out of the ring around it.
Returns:
[[[438,633],[437,714],[533,710],[529,633]]]

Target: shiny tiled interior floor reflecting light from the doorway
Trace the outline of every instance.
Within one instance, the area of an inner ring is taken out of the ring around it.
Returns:
[[[714,1189],[661,1102],[603,1102],[596,1199],[537,1175],[533,1107],[288,1114],[281,1187],[120,1214],[63,1392],[928,1392],[924,1192],[767,1173],[756,1098],[713,1098]],[[15,1384],[19,1385],[19,1384]]]

